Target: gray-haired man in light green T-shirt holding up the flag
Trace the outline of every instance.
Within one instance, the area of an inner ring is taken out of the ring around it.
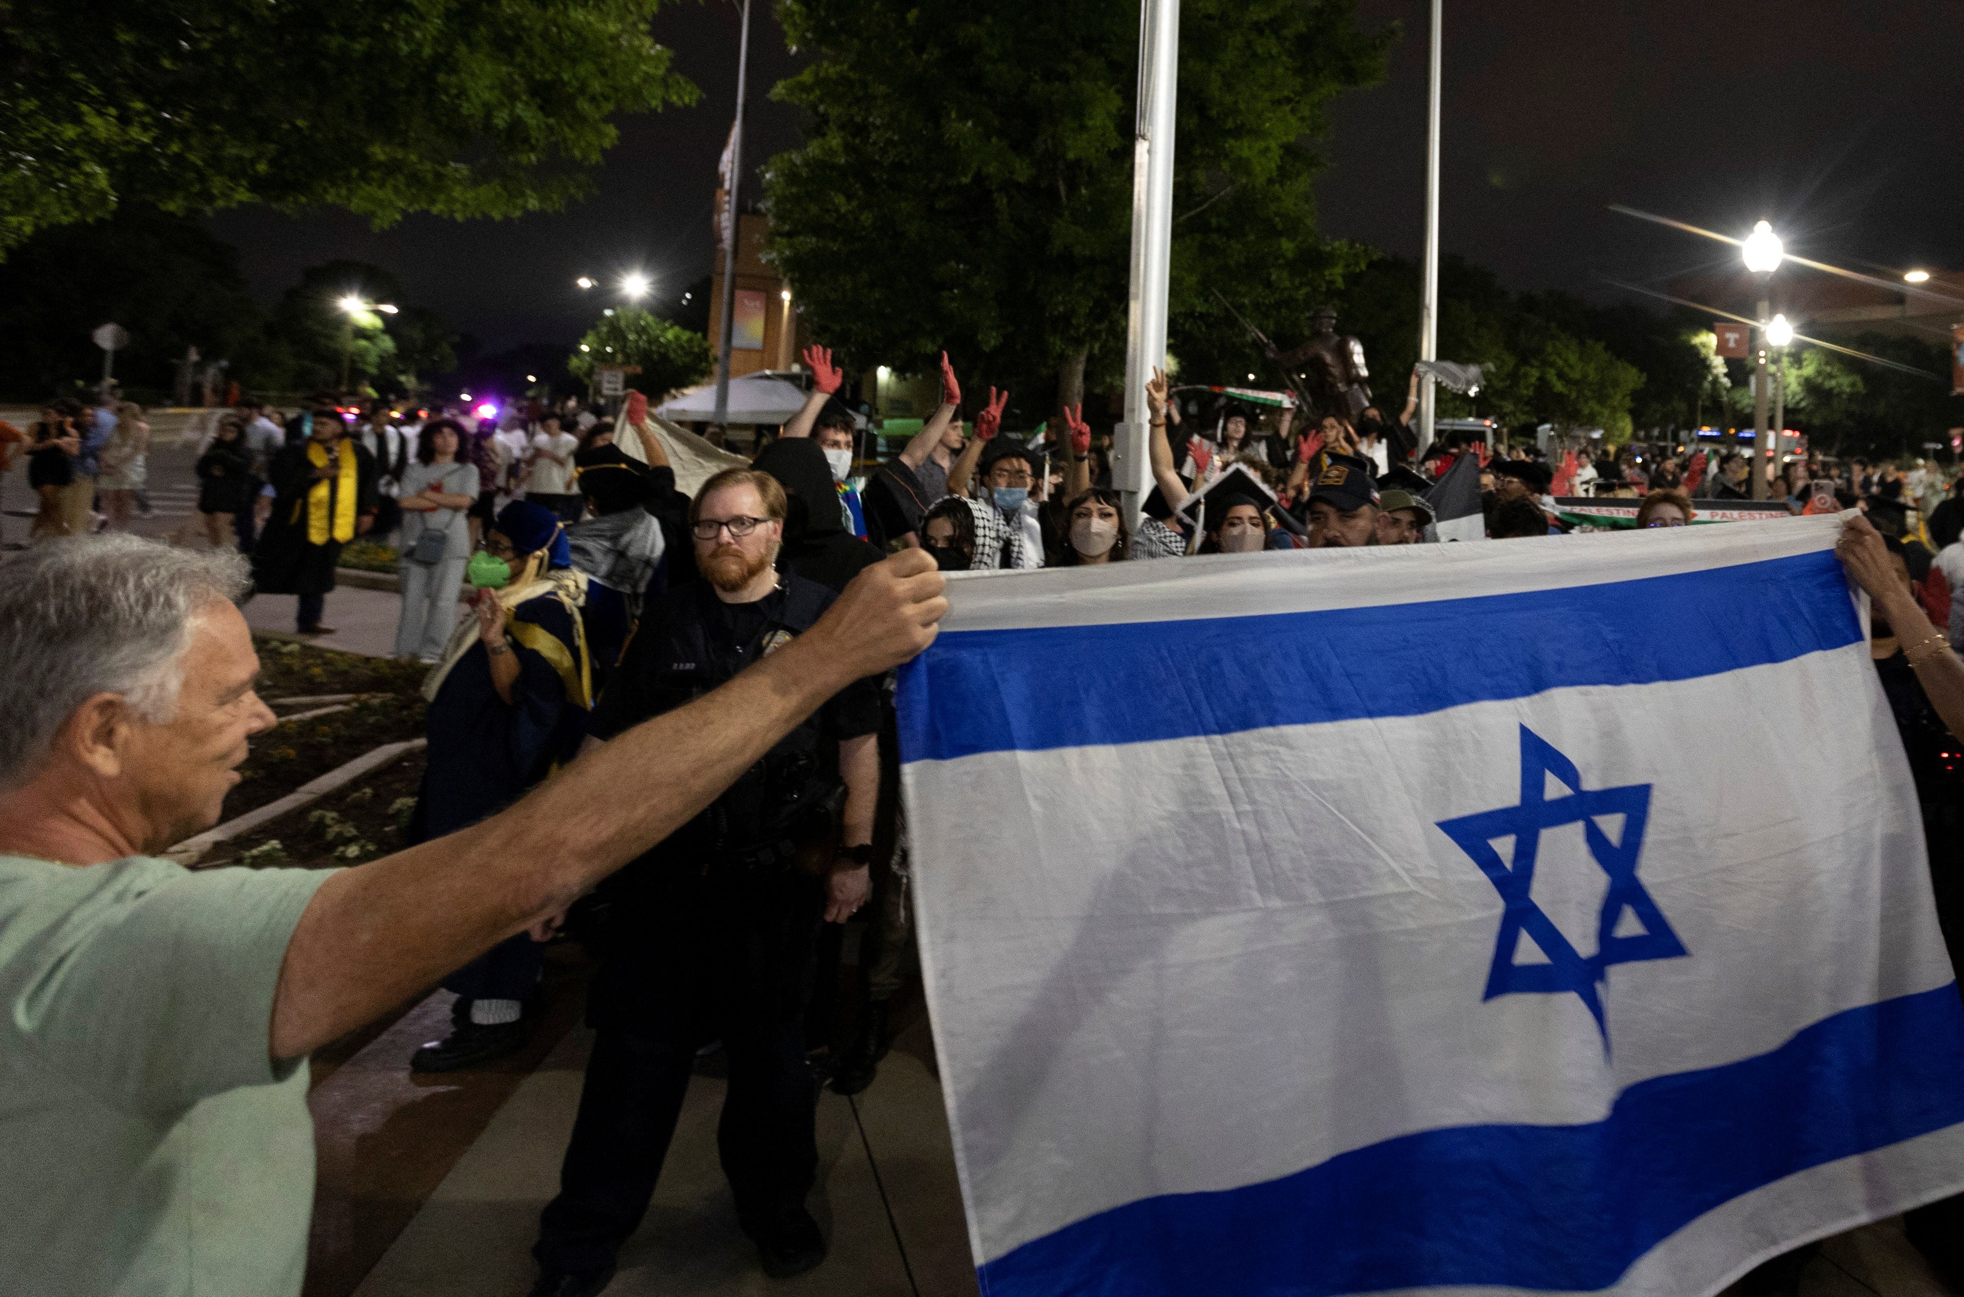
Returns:
[[[668,837],[947,609],[933,560],[898,554],[780,652],[479,825],[348,871],[189,873],[147,857],[218,819],[273,723],[242,588],[236,558],[130,536],[0,566],[8,1291],[299,1293],[306,1053]],[[650,796],[601,796],[630,784]]]

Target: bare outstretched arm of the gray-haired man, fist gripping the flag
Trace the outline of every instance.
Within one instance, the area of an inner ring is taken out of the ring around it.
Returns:
[[[328,878],[287,943],[273,1057],[418,994],[674,833],[827,698],[925,648],[949,607],[941,588],[919,550],[866,568],[815,627],[713,694],[583,753],[491,819]],[[603,796],[619,788],[646,796]]]

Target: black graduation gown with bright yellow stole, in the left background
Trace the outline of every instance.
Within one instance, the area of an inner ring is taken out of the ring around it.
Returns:
[[[267,466],[273,483],[273,517],[253,546],[251,576],[261,593],[328,593],[342,544],[359,535],[359,519],[375,513],[375,456],[352,436],[336,442],[342,456],[354,456],[354,474],[314,479],[318,442],[287,446]],[[350,507],[352,505],[352,507]]]

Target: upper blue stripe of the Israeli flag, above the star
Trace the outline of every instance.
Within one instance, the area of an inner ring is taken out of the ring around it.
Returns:
[[[901,676],[901,757],[1422,715],[1555,688],[1693,680],[1860,639],[1830,550],[1428,603],[949,631]]]

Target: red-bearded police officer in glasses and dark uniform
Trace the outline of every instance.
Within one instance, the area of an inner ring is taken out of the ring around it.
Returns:
[[[837,597],[778,574],[786,497],[735,468],[689,511],[705,580],[654,603],[593,713],[609,739],[707,694],[809,629]],[[534,1295],[599,1293],[640,1224],[695,1051],[721,1040],[717,1142],[764,1271],[825,1260],[805,1211],[817,1171],[803,1012],[821,922],[866,902],[880,790],[880,682],[837,694],[682,831],[609,884],[597,1028],[572,1146],[532,1250]],[[638,796],[638,790],[623,790]]]

